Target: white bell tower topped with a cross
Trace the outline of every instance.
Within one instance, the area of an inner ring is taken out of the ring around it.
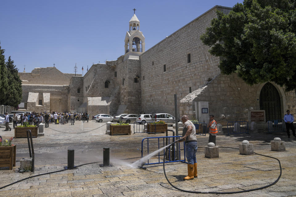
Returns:
[[[136,16],[136,9],[134,8],[134,15],[129,22],[129,30],[125,35],[124,53],[125,59],[139,59],[140,54],[145,52],[145,37],[140,31],[140,21]]]

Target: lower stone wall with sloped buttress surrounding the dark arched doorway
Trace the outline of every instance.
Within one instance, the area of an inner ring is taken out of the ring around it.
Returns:
[[[282,119],[286,110],[296,112],[294,91],[285,92],[281,86],[276,87],[282,100]],[[265,83],[264,83],[265,84]],[[209,114],[215,116],[217,123],[226,126],[229,121],[248,121],[248,110],[260,110],[260,91],[264,84],[247,85],[236,74],[220,74],[208,85],[193,91],[180,101],[180,115],[189,115],[195,119],[195,101],[208,101]],[[199,120],[203,122],[204,120]],[[205,120],[207,123],[208,120]]]

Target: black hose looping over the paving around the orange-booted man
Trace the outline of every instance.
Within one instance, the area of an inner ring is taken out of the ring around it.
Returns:
[[[177,141],[171,143],[170,146],[167,147],[166,152],[165,152],[164,155],[167,155],[167,150],[169,150],[170,147],[171,147],[173,144],[177,143],[177,142],[180,141],[180,140],[182,140],[182,139],[179,139],[179,140],[177,140]],[[219,148],[239,149],[239,148],[233,148],[233,147],[219,147]],[[254,152],[254,154],[256,154],[256,155],[261,155],[261,154],[259,154],[259,153],[255,153],[255,152]],[[278,180],[279,180],[279,179],[281,178],[281,176],[282,176],[282,166],[281,166],[281,162],[280,162],[280,160],[278,160],[277,158],[271,157],[271,156],[266,156],[266,155],[261,155],[261,156],[269,157],[269,158],[272,158],[272,159],[276,159],[276,160],[278,161],[279,166],[280,166],[280,170],[281,170],[281,171],[280,171],[280,175],[278,176],[278,179],[277,179],[277,180],[275,180],[273,183],[271,183],[271,184],[269,184],[269,185],[266,185],[266,186],[263,186],[263,187],[254,188],[254,189],[249,189],[249,190],[242,190],[242,191],[228,191],[228,192],[217,192],[217,191],[188,191],[188,190],[180,189],[180,188],[174,186],[174,185],[169,181],[169,179],[167,178],[167,173],[166,173],[165,166],[164,166],[164,164],[165,164],[165,163],[164,163],[164,162],[165,162],[165,156],[163,156],[163,172],[164,172],[164,175],[166,176],[167,182],[170,183],[170,185],[171,185],[172,187],[174,187],[175,189],[180,190],[180,191],[183,191],[183,192],[194,193],[194,194],[236,194],[236,193],[243,193],[243,192],[249,192],[249,191],[261,190],[261,189],[264,189],[264,188],[266,188],[266,187],[270,187],[270,186],[274,185],[275,183],[277,183]]]

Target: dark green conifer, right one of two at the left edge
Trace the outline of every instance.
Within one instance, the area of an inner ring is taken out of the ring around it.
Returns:
[[[6,62],[6,68],[9,72],[8,94],[11,98],[7,105],[17,106],[22,101],[22,81],[19,78],[19,69],[15,67],[14,61],[11,60],[10,56]]]

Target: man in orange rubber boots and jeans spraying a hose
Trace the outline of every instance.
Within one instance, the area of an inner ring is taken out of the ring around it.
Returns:
[[[197,141],[196,141],[196,133],[195,126],[189,120],[187,115],[182,116],[183,123],[183,133],[182,139],[179,142],[185,141],[185,154],[187,159],[187,170],[188,175],[184,177],[184,180],[194,179],[197,177],[197,161],[196,161],[196,150],[197,150]]]

